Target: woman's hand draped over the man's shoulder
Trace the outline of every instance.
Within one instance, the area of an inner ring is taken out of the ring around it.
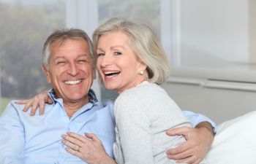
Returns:
[[[39,106],[39,114],[40,115],[43,114],[45,110],[45,103],[53,104],[53,101],[51,101],[51,99],[49,98],[48,90],[43,90],[42,93],[35,95],[34,98],[15,102],[15,104],[26,104],[26,106],[23,109],[23,112],[27,112],[31,107],[31,112],[30,112],[31,116],[34,116],[38,106]]]

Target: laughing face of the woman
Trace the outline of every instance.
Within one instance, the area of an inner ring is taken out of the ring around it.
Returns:
[[[129,44],[129,36],[115,31],[100,36],[97,45],[97,69],[104,85],[109,90],[123,92],[145,80],[146,70]]]

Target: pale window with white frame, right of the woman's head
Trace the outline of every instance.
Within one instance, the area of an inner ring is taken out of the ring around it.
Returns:
[[[162,0],[173,75],[256,82],[254,0]],[[171,11],[171,12],[170,12]]]

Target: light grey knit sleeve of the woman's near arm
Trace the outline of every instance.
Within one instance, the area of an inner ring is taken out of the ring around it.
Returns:
[[[130,97],[119,99],[115,105],[116,127],[126,164],[154,163],[150,120],[141,109],[143,106]]]

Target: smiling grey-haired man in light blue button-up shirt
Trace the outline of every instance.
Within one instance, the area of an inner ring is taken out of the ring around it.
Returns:
[[[8,104],[0,118],[1,164],[85,163],[69,154],[61,143],[61,135],[69,131],[81,135],[94,133],[102,141],[108,155],[113,157],[113,102],[100,105],[90,89],[95,77],[93,54],[91,40],[84,31],[61,30],[48,37],[42,52],[42,71],[53,87],[48,92],[53,104],[46,104],[45,114],[40,116],[37,112],[34,117],[23,112],[24,105],[15,104],[15,101]],[[195,114],[189,113],[187,117],[191,117],[195,124],[211,122]],[[211,136],[211,129],[208,130],[207,126],[202,128],[203,134]],[[176,131],[172,135],[178,133]],[[194,133],[197,132],[192,131],[191,136]],[[210,144],[212,138],[207,140]],[[171,156],[183,158],[184,155],[179,152],[184,152],[184,148],[188,149],[188,146],[185,144],[180,149],[170,150]],[[198,160],[196,157],[191,159],[194,161],[189,163]]]

